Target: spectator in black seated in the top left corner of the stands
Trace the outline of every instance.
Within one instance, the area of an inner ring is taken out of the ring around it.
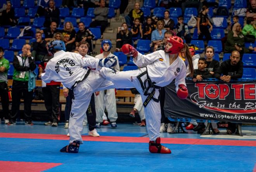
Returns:
[[[14,9],[12,9],[12,4],[10,2],[6,5],[6,10],[3,10],[2,15],[0,17],[0,25],[1,26],[14,26],[16,25],[16,20],[14,19]]]

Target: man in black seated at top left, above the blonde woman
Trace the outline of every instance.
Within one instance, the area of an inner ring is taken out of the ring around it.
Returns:
[[[49,8],[45,9],[45,22],[43,23],[43,26],[48,28],[51,25],[51,22],[56,22],[57,26],[59,26],[60,10],[55,7],[54,0],[50,0]]]

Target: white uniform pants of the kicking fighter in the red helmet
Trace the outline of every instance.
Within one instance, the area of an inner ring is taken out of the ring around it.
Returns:
[[[144,72],[146,68],[134,70],[134,71],[121,71],[114,73],[109,68],[102,68],[100,75],[105,77],[107,80],[112,81],[115,88],[136,88],[142,97],[144,102],[147,96],[144,96],[143,90],[140,86],[140,82],[137,76]],[[147,75],[141,77],[142,81],[147,79]],[[149,89],[149,92],[152,89]],[[154,98],[159,97],[159,89],[156,89]],[[161,110],[160,103],[154,100],[150,100],[147,107],[144,108],[146,117],[147,132],[149,134],[150,141],[155,141],[156,138],[160,137],[160,125],[161,125]]]

